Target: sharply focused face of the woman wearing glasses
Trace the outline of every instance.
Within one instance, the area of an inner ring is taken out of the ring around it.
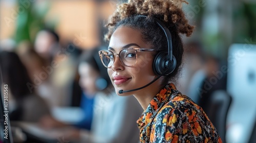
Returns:
[[[119,54],[122,49],[127,47],[151,49],[151,45],[142,40],[141,33],[138,30],[119,27],[110,39],[109,50],[114,54]],[[138,94],[150,88],[148,86],[138,91],[122,94],[118,92],[121,89],[130,90],[142,87],[156,78],[152,67],[154,61],[152,54],[153,52],[138,52],[137,63],[134,66],[124,66],[119,56],[116,56],[114,64],[111,68],[108,68],[108,73],[117,94],[127,96]]]

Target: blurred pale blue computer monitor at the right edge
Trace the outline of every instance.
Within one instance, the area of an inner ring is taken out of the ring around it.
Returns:
[[[256,45],[232,44],[227,60],[227,91],[232,96],[228,141],[248,142],[256,116]]]

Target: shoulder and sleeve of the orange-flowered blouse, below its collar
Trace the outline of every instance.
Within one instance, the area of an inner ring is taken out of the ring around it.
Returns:
[[[179,138],[181,142],[186,142],[187,139],[196,142],[204,142],[207,139],[221,142],[217,130],[202,108],[182,94],[174,97],[159,110],[155,118],[155,130],[161,132],[161,129],[165,130],[162,132],[165,137],[183,136],[184,140]]]

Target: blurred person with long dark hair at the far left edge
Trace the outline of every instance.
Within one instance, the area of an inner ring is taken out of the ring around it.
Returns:
[[[9,114],[11,121],[38,122],[43,116],[50,115],[44,99],[31,92],[32,83],[23,63],[14,52],[0,52],[3,83],[8,85]],[[3,87],[3,86],[1,86]]]

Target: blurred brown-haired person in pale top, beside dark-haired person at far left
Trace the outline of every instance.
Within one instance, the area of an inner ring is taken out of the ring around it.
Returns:
[[[50,70],[53,68],[48,66],[47,61],[36,53],[29,41],[20,42],[17,46],[17,53],[31,79],[31,84],[28,86],[30,91],[36,91],[50,107],[57,106],[59,104],[59,99],[56,96],[58,91],[50,81],[53,72]]]

